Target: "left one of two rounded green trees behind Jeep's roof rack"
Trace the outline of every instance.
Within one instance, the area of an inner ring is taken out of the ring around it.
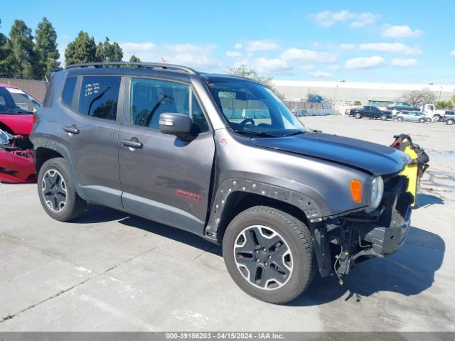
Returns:
[[[88,33],[80,31],[77,38],[65,49],[65,64],[97,62],[97,45],[95,39]]]

